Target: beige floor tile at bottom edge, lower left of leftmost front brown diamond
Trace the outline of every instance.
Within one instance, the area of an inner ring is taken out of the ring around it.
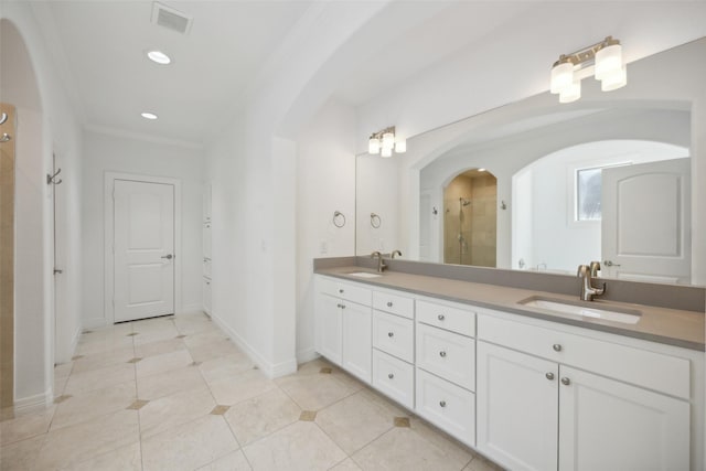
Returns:
[[[139,438],[137,413],[119,410],[50,431],[38,457],[36,467],[42,470],[73,467],[135,443]]]

